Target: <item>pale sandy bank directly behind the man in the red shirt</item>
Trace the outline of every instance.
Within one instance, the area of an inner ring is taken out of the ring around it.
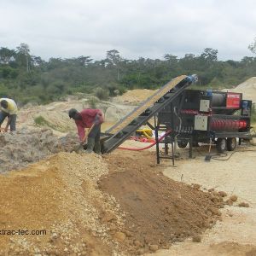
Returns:
[[[35,126],[50,128],[56,136],[65,136],[67,132],[76,131],[73,119],[69,119],[68,110],[76,108],[79,111],[90,107],[90,98],[80,100],[69,100],[67,102],[52,102],[44,106],[26,106],[21,108],[18,113],[17,127],[33,129]],[[102,131],[108,130],[119,119],[130,113],[135,107],[118,104],[116,102],[102,102],[96,100],[94,108],[102,109],[105,115],[105,122]]]

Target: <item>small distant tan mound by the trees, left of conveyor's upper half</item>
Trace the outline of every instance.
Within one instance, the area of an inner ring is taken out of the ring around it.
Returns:
[[[137,89],[128,90],[122,96],[116,96],[114,102],[138,105],[154,94],[155,90]]]

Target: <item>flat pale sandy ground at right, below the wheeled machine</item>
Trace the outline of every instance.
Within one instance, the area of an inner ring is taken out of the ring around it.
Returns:
[[[199,151],[202,149],[199,148]],[[199,183],[201,189],[223,190],[228,195],[237,195],[236,205],[243,201],[250,207],[224,207],[223,221],[212,230],[207,230],[201,243],[187,240],[173,245],[169,250],[160,250],[154,255],[256,255],[256,148],[241,146],[230,160],[204,161],[198,154],[195,159],[177,160],[174,168],[166,160],[161,163],[164,174],[184,183]],[[203,150],[201,153],[205,153]],[[229,153],[230,154],[230,153]]]

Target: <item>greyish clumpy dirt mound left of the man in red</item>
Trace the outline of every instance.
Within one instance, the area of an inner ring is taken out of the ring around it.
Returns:
[[[23,168],[50,154],[71,151],[78,143],[76,135],[58,138],[49,129],[24,128],[14,133],[0,133],[0,173]]]

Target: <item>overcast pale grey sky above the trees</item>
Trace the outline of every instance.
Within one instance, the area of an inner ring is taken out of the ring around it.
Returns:
[[[117,49],[127,59],[200,55],[252,56],[256,0],[0,0],[0,47],[30,46],[32,55],[90,55]]]

